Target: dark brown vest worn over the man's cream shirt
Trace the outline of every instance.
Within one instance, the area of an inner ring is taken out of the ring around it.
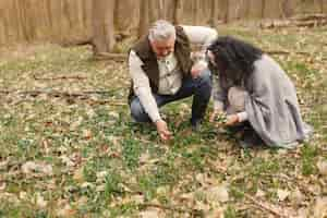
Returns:
[[[191,44],[189,37],[184,33],[184,29],[181,26],[175,26],[175,44],[174,44],[174,56],[178,61],[178,65],[183,73],[183,76],[190,74],[192,68],[191,60]],[[159,68],[155,52],[150,47],[148,40],[148,35],[143,37],[136,43],[136,45],[131,48],[135,51],[138,58],[142,60],[142,69],[149,78],[149,84],[153,93],[158,93],[159,87]],[[130,89],[129,102],[131,102],[134,97],[133,83]]]

